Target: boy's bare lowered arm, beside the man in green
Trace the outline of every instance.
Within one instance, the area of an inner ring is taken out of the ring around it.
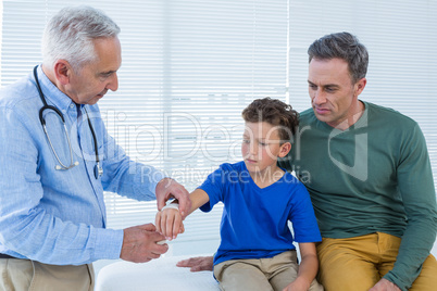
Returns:
[[[319,269],[319,260],[313,242],[299,243],[301,263],[299,265],[298,277],[288,284],[284,291],[308,290],[314,280]]]

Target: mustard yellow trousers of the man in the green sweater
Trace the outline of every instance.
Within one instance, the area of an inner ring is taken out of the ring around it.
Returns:
[[[319,281],[326,291],[367,291],[392,269],[401,239],[376,232],[317,244]],[[437,262],[429,254],[410,291],[437,290]]]

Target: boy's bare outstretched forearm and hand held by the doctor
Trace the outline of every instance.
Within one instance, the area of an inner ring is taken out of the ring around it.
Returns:
[[[193,211],[210,201],[208,193],[201,189],[196,189],[189,195],[191,200],[191,208],[187,216]],[[184,232],[183,219],[177,208],[163,208],[157,213],[155,217],[157,231],[161,232],[167,240],[176,239],[178,233]]]

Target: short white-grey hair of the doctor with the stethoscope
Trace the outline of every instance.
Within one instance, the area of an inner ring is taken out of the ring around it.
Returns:
[[[118,34],[115,22],[98,9],[86,5],[64,8],[46,26],[42,63],[51,67],[58,60],[65,60],[78,73],[84,64],[97,61],[92,40]]]

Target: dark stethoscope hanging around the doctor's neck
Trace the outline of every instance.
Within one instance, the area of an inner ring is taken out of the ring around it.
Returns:
[[[59,163],[59,165],[55,165],[54,168],[55,168],[55,169],[70,169],[70,168],[73,168],[73,167],[77,166],[77,165],[79,164],[79,162],[77,162],[77,161],[76,161],[76,162],[73,162],[72,143],[71,143],[71,141],[70,141],[68,132],[67,132],[67,130],[66,130],[64,116],[63,116],[63,114],[61,113],[61,111],[60,111],[59,109],[57,109],[55,106],[52,106],[52,105],[48,105],[48,104],[47,104],[46,98],[45,98],[43,94],[42,94],[41,86],[39,85],[37,68],[38,68],[38,66],[35,66],[35,67],[34,67],[34,77],[35,77],[35,81],[36,81],[36,87],[37,87],[37,89],[38,89],[39,98],[41,99],[41,101],[42,101],[42,103],[43,103],[43,106],[39,110],[39,122],[41,123],[43,132],[46,134],[47,140],[49,141],[49,144],[50,144],[50,148],[51,148],[51,150],[52,150],[52,152],[53,152],[53,154],[54,154],[54,157],[57,159],[57,161],[58,161],[58,163]],[[93,142],[95,142],[96,165],[95,165],[95,169],[93,169],[93,170],[95,170],[95,177],[96,177],[96,179],[98,179],[99,176],[102,176],[102,175],[103,175],[103,168],[100,166],[99,152],[98,152],[98,149],[97,149],[98,147],[97,147],[97,138],[96,138],[95,129],[92,128],[91,122],[89,121],[89,116],[88,116],[87,109],[86,109],[86,107],[84,107],[84,109],[85,109],[85,113],[87,114],[87,121],[88,121],[89,129],[91,130],[92,139],[93,139]],[[71,159],[70,159],[70,165],[68,165],[68,166],[64,165],[64,164],[61,162],[61,160],[59,159],[59,156],[58,156],[58,154],[57,154],[57,151],[54,150],[53,144],[52,144],[52,142],[51,142],[51,140],[50,140],[50,137],[49,137],[49,135],[48,135],[48,132],[47,132],[46,119],[45,119],[43,116],[42,116],[45,110],[51,110],[51,111],[53,111],[54,113],[57,113],[57,115],[60,117],[60,119],[61,119],[61,122],[62,122],[62,125],[64,126],[64,134],[65,134],[66,140],[67,140],[67,142],[68,142],[70,157],[71,157]]]

